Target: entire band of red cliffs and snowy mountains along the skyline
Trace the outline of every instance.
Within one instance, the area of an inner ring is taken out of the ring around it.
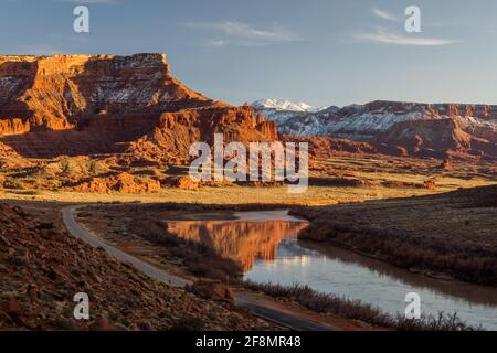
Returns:
[[[226,142],[325,137],[389,154],[497,159],[497,106],[378,100],[315,108],[261,99],[234,107],[175,78],[165,54],[0,56],[2,154],[188,163],[191,143],[212,142],[215,132]]]

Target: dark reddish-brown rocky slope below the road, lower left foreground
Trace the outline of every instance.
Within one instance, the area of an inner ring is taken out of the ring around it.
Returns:
[[[0,330],[250,330],[262,321],[156,282],[40,222],[0,204]],[[91,320],[73,317],[74,295],[89,296]]]

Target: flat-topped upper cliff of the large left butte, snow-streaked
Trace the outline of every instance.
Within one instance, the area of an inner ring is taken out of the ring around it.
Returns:
[[[166,55],[1,56],[1,116],[68,129],[89,116],[158,115],[212,104],[177,82]]]

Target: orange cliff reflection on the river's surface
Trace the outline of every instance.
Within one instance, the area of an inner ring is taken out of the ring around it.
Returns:
[[[305,222],[292,221],[286,213],[282,215],[282,220],[243,216],[234,221],[173,221],[167,222],[167,227],[180,238],[215,249],[220,256],[239,263],[246,272],[256,259],[274,260],[279,243],[307,226]]]

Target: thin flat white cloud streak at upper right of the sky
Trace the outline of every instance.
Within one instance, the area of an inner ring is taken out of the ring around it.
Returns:
[[[353,38],[358,41],[392,45],[440,46],[461,43],[457,40],[395,34],[384,29],[377,29],[371,33],[358,33]]]

